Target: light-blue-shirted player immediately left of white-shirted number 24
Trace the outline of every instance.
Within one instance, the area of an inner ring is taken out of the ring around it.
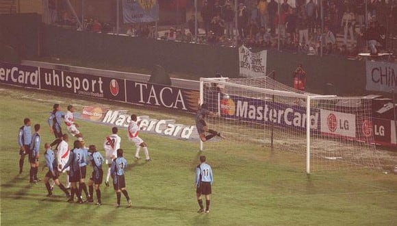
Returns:
[[[102,170],[102,164],[105,162],[103,160],[103,156],[101,153],[97,151],[97,147],[95,145],[90,145],[89,149],[91,155],[90,155],[90,161],[92,164],[92,167],[94,168],[94,171],[92,171],[92,177],[88,181],[88,190],[90,190],[90,199],[88,199],[88,202],[92,203],[93,200],[93,194],[94,194],[94,186],[95,185],[95,193],[97,193],[97,205],[101,205],[101,186],[102,184],[102,179],[103,179],[103,170]]]

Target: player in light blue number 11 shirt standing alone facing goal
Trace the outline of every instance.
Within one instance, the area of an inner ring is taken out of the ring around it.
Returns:
[[[214,177],[212,175],[212,168],[205,162],[205,155],[200,156],[199,166],[196,167],[196,184],[194,187],[196,188],[197,202],[199,203],[200,210],[198,213],[205,212],[209,213],[209,195],[211,194],[211,186],[214,181]],[[201,195],[205,196],[205,204],[206,208],[204,211],[203,199],[201,199]]]

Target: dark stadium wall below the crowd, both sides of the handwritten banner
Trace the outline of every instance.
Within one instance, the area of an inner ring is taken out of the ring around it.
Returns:
[[[238,50],[231,47],[192,45],[148,38],[131,38],[77,32],[60,27],[46,27],[44,54],[75,58],[81,62],[107,62],[151,69],[155,64],[170,73],[213,77],[216,72],[238,77]],[[340,56],[268,51],[268,71],[277,72],[277,81],[292,85],[292,73],[298,63],[307,71],[307,90],[338,95],[365,95],[365,61],[346,60]]]

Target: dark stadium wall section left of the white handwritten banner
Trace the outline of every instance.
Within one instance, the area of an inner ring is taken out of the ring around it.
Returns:
[[[150,38],[131,38],[77,32],[60,27],[46,27],[44,55],[75,58],[81,62],[152,69],[155,64],[166,71],[199,77],[214,77],[216,72],[238,76],[238,52],[229,47],[192,45]]]

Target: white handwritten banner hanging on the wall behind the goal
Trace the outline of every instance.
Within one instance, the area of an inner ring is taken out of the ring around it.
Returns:
[[[240,62],[240,76],[264,77],[266,75],[267,51],[252,52],[247,47],[238,48]]]

